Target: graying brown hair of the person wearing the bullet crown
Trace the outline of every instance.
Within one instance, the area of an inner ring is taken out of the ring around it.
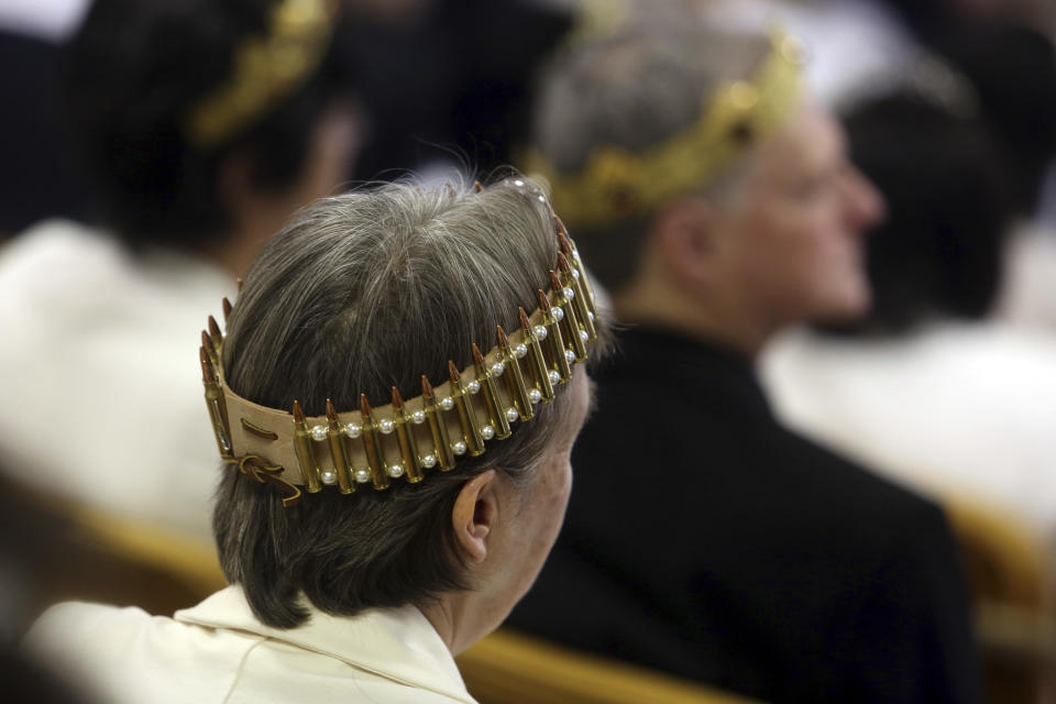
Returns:
[[[508,178],[420,191],[409,185],[327,198],[302,210],[267,245],[229,319],[223,366],[231,388],[272,408],[326,399],[356,408],[360,393],[384,405],[397,386],[420,394],[448,360],[471,363],[495,326],[516,329],[532,310],[558,256],[550,207],[530,182]],[[421,604],[468,588],[451,509],[464,482],[495,468],[531,472],[570,421],[558,393],[536,417],[454,470],[386,492],[306,494],[283,508],[274,490],[238,472],[221,481],[213,516],[221,565],[265,624],[306,618],[297,597],[352,615]]]

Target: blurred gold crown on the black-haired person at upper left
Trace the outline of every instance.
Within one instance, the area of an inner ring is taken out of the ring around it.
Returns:
[[[231,77],[191,109],[190,142],[216,146],[289,95],[322,61],[336,14],[337,0],[280,0],[268,33],[245,40]]]

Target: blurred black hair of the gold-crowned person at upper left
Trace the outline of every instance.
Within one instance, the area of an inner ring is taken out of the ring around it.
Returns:
[[[220,166],[245,155],[254,184],[287,186],[311,128],[351,90],[340,26],[315,73],[215,148],[188,142],[190,108],[233,72],[237,47],[267,32],[279,0],[96,0],[69,46],[72,131],[99,217],[131,246],[195,248],[223,235]]]

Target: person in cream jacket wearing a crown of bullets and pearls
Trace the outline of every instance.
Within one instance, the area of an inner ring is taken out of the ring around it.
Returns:
[[[607,337],[558,232],[521,178],[302,210],[200,351],[231,586],[174,618],[62,604],[31,649],[112,704],[473,704],[453,656],[553,544]]]

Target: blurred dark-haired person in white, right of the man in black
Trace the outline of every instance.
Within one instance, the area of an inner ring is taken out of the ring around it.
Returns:
[[[873,302],[768,349],[774,406],[898,481],[999,508],[1056,547],[1056,334],[990,317],[1019,211],[1010,160],[977,103],[935,91],[871,100],[846,125],[888,201],[866,243]]]

